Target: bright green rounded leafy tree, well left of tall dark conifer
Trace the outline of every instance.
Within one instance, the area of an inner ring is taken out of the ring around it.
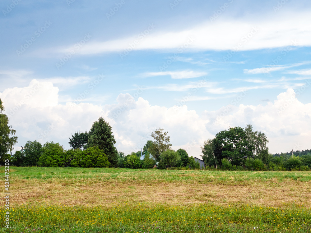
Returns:
[[[63,146],[59,143],[46,142],[37,165],[40,167],[67,167],[69,159],[70,157],[64,153]]]

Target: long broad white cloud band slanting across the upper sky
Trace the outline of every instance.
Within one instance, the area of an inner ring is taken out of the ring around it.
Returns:
[[[130,46],[136,36],[110,41],[88,42],[77,51],[80,54],[99,54],[106,52],[123,52],[124,50],[146,49],[181,49],[196,50],[254,50],[264,48],[280,48],[285,46],[310,46],[311,25],[309,11],[289,12],[267,15],[266,18],[243,19],[223,18],[216,21],[206,21],[200,25],[193,25],[180,31],[152,31],[147,37],[139,41],[134,48]],[[273,23],[271,23],[273,22]],[[238,45],[241,45],[238,47]],[[65,48],[53,48],[53,51],[66,53],[73,45]],[[51,51],[53,53],[53,51]]]

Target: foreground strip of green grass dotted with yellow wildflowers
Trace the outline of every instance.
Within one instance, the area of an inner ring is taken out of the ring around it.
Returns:
[[[11,227],[7,232],[310,232],[311,211],[297,206],[23,206],[11,210]]]

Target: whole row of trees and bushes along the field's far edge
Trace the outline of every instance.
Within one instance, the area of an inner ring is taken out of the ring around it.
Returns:
[[[184,149],[172,150],[168,132],[159,128],[151,133],[153,140],[148,140],[141,152],[132,152],[125,156],[114,146],[116,141],[112,127],[104,118],[95,121],[87,132],[75,132],[69,138],[72,149],[64,150],[59,143],[41,144],[28,141],[22,150],[11,157],[7,154],[16,144],[16,133],[8,125],[8,117],[0,99],[0,153],[1,160],[10,159],[15,166],[40,167],[121,167],[157,169],[199,169],[200,164]],[[254,131],[252,125],[230,127],[220,131],[214,139],[204,142],[202,160],[209,170],[309,170],[311,155],[309,150],[270,154],[268,139],[264,133]],[[294,156],[295,154],[295,156]]]

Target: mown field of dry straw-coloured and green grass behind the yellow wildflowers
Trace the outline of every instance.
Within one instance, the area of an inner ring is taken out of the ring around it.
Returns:
[[[107,207],[125,203],[269,207],[296,204],[310,208],[310,180],[311,173],[303,171],[14,167],[10,171],[10,203]],[[3,198],[0,202],[3,204]]]

